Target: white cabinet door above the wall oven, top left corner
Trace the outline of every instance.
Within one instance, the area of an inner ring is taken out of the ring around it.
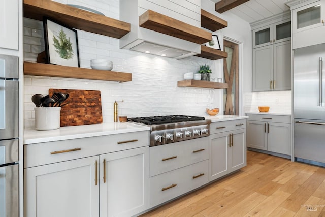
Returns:
[[[18,50],[18,0],[0,1],[0,47]]]

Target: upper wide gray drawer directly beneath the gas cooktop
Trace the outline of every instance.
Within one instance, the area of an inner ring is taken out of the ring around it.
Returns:
[[[209,137],[149,148],[150,177],[209,159]]]

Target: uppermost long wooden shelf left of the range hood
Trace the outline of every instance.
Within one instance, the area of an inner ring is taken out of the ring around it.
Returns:
[[[131,30],[129,23],[51,0],[24,0],[24,17],[43,20],[43,16],[72,28],[118,39]]]

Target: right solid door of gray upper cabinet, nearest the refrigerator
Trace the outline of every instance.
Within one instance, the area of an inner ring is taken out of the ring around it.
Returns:
[[[273,89],[291,89],[291,41],[273,45]]]

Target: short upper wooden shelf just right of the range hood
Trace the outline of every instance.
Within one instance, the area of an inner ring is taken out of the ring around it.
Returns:
[[[201,26],[215,32],[216,30],[227,27],[228,22],[201,9]]]

